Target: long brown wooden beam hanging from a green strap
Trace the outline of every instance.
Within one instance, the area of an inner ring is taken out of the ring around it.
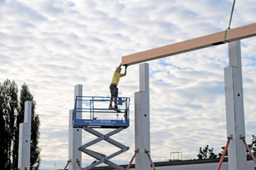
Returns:
[[[220,31],[204,37],[197,37],[184,42],[149,49],[137,54],[125,55],[122,57],[122,65],[135,65],[153,59],[160,59],[175,54],[194,51],[196,49],[220,45],[225,42],[234,42],[247,37],[254,37],[256,36],[256,23],[228,30],[226,41],[224,41],[224,35],[225,31]]]

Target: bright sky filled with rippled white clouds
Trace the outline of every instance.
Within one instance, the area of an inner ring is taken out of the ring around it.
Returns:
[[[74,86],[83,95],[109,96],[122,56],[202,37],[229,26],[231,0],[0,0],[0,82],[26,82],[41,121],[41,169],[64,168],[68,159],[68,114]],[[236,1],[231,29],[255,22],[256,3]],[[256,37],[241,40],[247,143],[256,135]],[[150,154],[197,157],[200,147],[218,154],[226,144],[224,68],[228,44],[156,59],[149,64]],[[131,126],[113,139],[130,147],[112,161],[128,164],[135,150],[134,93],[139,65],[119,82],[131,98]],[[106,106],[108,107],[108,105]],[[103,130],[107,132],[108,130]],[[96,137],[83,132],[83,144]],[[102,149],[103,148],[103,149]],[[109,155],[105,142],[93,146]],[[95,159],[82,154],[82,167]]]

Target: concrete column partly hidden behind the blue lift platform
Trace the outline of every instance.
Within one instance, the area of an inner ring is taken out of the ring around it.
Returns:
[[[83,95],[83,86],[76,85],[74,87],[74,99],[76,96]],[[78,102],[78,107],[82,108],[82,101]],[[82,113],[77,113],[77,118],[82,119]],[[73,110],[69,111],[69,140],[68,140],[68,160],[71,161],[68,165],[69,170],[78,170],[79,163],[82,166],[82,153],[78,148],[82,145],[82,129],[73,128]],[[77,161],[80,161],[79,163]]]

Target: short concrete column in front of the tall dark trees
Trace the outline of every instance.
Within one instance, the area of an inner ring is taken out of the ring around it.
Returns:
[[[25,102],[24,122],[20,123],[18,169],[30,169],[32,101]]]

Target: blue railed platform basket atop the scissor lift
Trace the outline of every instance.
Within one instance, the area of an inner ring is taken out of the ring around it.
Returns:
[[[73,110],[73,127],[129,127],[130,98],[117,98],[119,112],[108,109],[109,99],[110,97],[101,96],[77,96]],[[82,103],[82,106],[79,106],[79,103]],[[79,113],[82,113],[84,118],[77,118]]]

